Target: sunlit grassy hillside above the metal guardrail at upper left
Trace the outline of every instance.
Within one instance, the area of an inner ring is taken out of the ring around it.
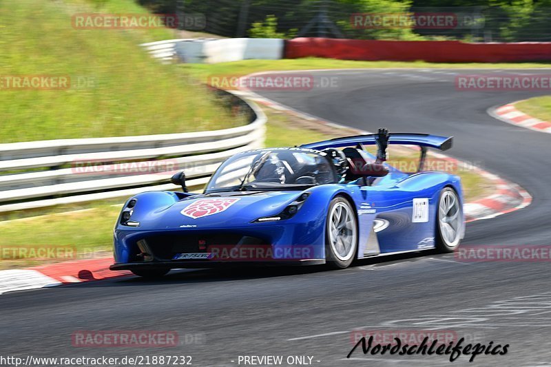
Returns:
[[[0,143],[164,134],[238,125],[205,87],[140,43],[172,30],[79,30],[79,12],[145,12],[133,0],[1,1],[0,76],[67,76],[67,90],[1,90]],[[77,87],[76,81],[90,81]]]

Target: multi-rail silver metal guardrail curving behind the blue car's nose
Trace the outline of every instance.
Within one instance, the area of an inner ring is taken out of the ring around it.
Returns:
[[[178,189],[167,182],[180,170],[191,189],[200,188],[223,160],[264,142],[262,110],[228,92],[216,93],[248,124],[211,132],[0,144],[0,212]]]

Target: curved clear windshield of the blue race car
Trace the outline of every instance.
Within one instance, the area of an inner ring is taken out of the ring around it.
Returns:
[[[212,176],[205,192],[300,189],[335,182],[331,163],[316,151],[264,149],[226,160]]]

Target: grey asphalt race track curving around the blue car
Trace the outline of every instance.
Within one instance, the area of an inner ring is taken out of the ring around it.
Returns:
[[[370,131],[455,136],[451,155],[517,182],[534,199],[521,211],[468,224],[463,243],[550,244],[551,136],[486,114],[488,107],[541,92],[455,90],[456,74],[487,72],[332,71],[316,74],[337,77],[338,87],[264,95]],[[23,291],[0,296],[0,356],[191,355],[194,366],[238,366],[239,355],[307,355],[314,366],[450,364],[446,356],[364,356],[361,350],[346,359],[354,329],[430,329],[468,342],[510,344],[508,354],[479,355],[470,366],[545,366],[551,365],[550,280],[548,262],[466,263],[424,253],[344,271],[180,271],[159,282],[128,277]],[[177,331],[183,340],[172,348],[75,348],[71,335],[78,330]],[[202,338],[186,342],[185,335]]]

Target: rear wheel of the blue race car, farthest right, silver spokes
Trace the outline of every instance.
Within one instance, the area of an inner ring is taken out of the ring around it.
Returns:
[[[457,193],[450,187],[440,192],[437,215],[437,249],[453,252],[461,240],[463,213]]]

